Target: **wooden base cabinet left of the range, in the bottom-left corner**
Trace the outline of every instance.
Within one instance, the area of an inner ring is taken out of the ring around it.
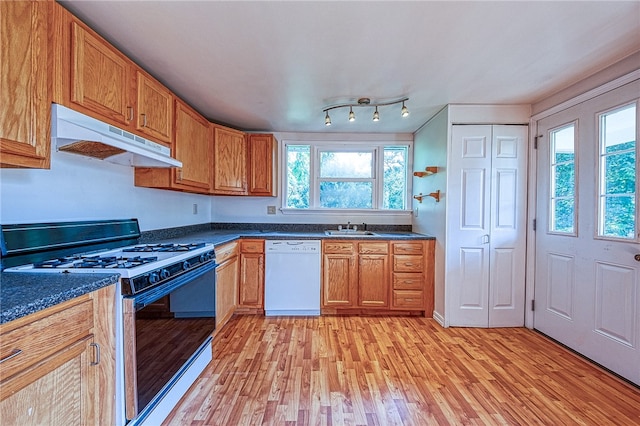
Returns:
[[[114,423],[114,287],[0,326],[3,424]]]

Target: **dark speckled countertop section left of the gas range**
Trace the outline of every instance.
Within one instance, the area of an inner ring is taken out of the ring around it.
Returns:
[[[2,272],[0,324],[118,282],[118,274]]]

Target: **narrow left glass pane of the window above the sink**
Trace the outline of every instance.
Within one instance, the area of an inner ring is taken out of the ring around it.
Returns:
[[[287,208],[309,208],[311,147],[287,146]]]

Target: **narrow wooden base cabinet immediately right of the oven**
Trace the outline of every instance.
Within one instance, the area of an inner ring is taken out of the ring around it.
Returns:
[[[229,321],[238,305],[238,243],[216,247],[216,333]]]

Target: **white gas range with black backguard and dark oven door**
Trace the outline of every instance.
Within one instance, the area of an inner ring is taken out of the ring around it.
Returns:
[[[212,358],[213,244],[138,244],[140,236],[136,219],[2,225],[0,233],[3,272],[120,275],[118,426],[160,424]]]

